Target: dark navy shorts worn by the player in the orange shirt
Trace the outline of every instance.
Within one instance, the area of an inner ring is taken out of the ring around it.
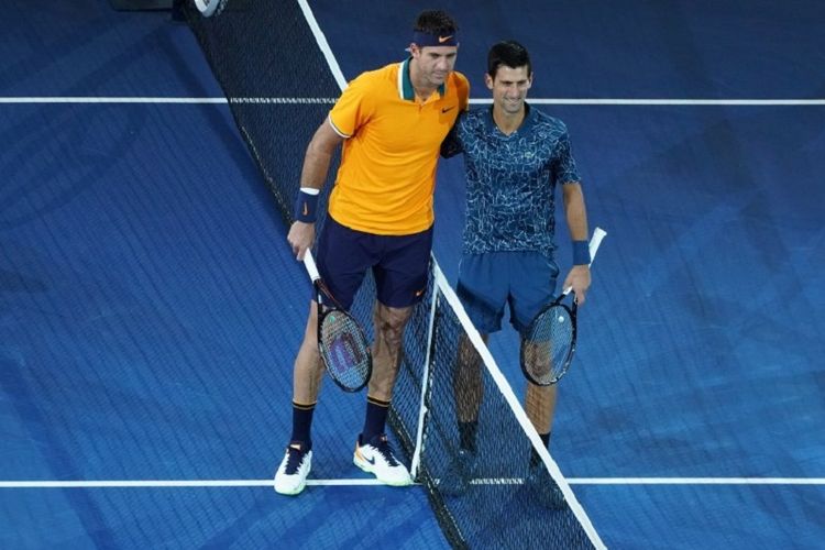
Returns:
[[[380,302],[394,308],[414,306],[427,289],[431,248],[431,227],[411,235],[376,235],[328,216],[318,238],[318,273],[344,309],[352,305],[369,268]]]

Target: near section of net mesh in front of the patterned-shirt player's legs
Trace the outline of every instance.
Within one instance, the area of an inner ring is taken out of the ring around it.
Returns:
[[[475,392],[457,386],[455,381],[464,364],[462,350],[474,344],[471,329],[446,299],[452,290],[435,276],[437,271],[433,263],[427,299],[417,306],[405,333],[392,424],[411,459],[424,395],[417,479],[427,488],[448,540],[457,548],[593,548],[580,519],[559,502],[543,463],[531,466],[530,440],[487,364],[477,365],[484,391],[475,454],[469,463],[462,462],[459,407],[472,402]]]

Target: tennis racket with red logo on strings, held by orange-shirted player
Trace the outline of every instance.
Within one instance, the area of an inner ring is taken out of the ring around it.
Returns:
[[[363,329],[345,311],[323,283],[312,253],[304,254],[304,266],[318,301],[318,351],[332,381],[344,392],[358,392],[370,382],[373,358]]]

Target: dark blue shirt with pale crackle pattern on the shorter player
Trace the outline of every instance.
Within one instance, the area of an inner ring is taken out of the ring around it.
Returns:
[[[496,125],[492,106],[462,113],[441,145],[446,157],[464,153],[464,254],[556,248],[556,186],[581,178],[564,123],[525,108],[510,135]]]

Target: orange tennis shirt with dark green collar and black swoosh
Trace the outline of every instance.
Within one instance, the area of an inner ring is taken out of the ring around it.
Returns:
[[[452,72],[426,102],[415,99],[409,59],[363,73],[329,113],[346,141],[329,213],[348,228],[406,235],[432,226],[441,142],[468,108],[470,84]]]

